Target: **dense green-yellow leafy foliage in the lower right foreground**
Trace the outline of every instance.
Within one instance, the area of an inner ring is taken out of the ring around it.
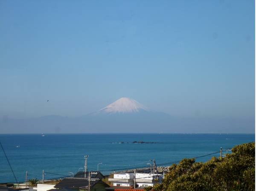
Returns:
[[[224,158],[183,159],[169,168],[163,182],[146,191],[254,191],[255,143],[238,145]]]

